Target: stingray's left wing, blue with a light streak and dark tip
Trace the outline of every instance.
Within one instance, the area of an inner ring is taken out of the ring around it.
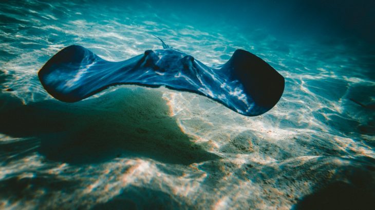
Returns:
[[[76,102],[108,86],[126,83],[123,75],[136,69],[142,61],[144,55],[110,62],[84,47],[71,45],[50,58],[38,76],[44,89],[54,98]],[[128,80],[132,80],[132,74]]]

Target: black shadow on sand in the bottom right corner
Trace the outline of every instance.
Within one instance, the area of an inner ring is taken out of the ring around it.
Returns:
[[[375,205],[375,159],[347,159],[351,165],[340,169],[333,182],[317,187],[292,208],[305,209],[373,209]],[[319,185],[319,184],[317,184]]]

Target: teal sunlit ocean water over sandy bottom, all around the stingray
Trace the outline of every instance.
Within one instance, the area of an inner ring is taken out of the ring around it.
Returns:
[[[1,1],[1,209],[371,209],[370,1]],[[209,66],[236,49],[285,77],[269,112],[116,86],[76,103],[37,72],[78,44],[110,61],[173,48]]]

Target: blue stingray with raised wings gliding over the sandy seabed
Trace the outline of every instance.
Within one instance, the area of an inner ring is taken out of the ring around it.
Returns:
[[[146,50],[119,62],[71,45],[53,55],[38,76],[50,95],[65,102],[80,101],[115,85],[165,86],[207,96],[245,116],[269,111],[284,92],[284,77],[246,50],[237,49],[225,64],[207,66],[160,40],[163,49]]]

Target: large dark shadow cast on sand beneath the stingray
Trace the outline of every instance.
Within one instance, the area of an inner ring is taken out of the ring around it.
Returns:
[[[27,105],[3,93],[0,104],[0,133],[29,139],[2,143],[0,152],[9,158],[14,151],[35,150],[49,160],[70,164],[116,157],[175,164],[219,158],[190,141],[168,115],[161,92],[154,89],[130,86],[77,103],[51,99]]]

